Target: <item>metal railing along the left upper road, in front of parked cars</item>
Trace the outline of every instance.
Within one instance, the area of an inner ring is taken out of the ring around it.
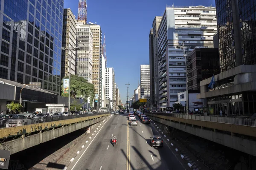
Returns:
[[[94,114],[74,114],[69,116],[38,116],[32,118],[18,118],[18,119],[2,119],[0,120],[0,129],[6,127],[17,127],[23,125],[32,125],[43,122],[53,122],[58,120],[74,119],[88,116],[101,115],[106,113],[94,113]]]

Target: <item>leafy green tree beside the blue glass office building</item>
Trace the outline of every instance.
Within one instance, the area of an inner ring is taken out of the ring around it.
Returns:
[[[68,79],[68,76],[63,77],[63,79]],[[63,94],[63,79],[61,81],[61,95],[68,97],[68,94]],[[70,75],[70,97],[76,98],[81,97],[87,101],[87,98],[90,97],[90,105],[92,105],[94,100],[94,85],[87,82],[83,77],[78,77],[77,75]]]

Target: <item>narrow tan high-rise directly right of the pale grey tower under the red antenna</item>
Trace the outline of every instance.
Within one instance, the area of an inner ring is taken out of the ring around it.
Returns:
[[[93,33],[93,85],[95,94],[98,94],[99,101],[102,98],[102,31],[101,27],[97,24],[90,24]],[[97,104],[97,103],[95,103]],[[94,105],[96,106],[96,105]],[[100,108],[100,105],[99,105]]]

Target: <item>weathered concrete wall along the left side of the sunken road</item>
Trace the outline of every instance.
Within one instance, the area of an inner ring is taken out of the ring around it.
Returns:
[[[25,150],[29,147],[33,147],[35,145],[55,139],[59,136],[63,136],[68,133],[79,130],[81,128],[93,125],[97,122],[104,120],[106,117],[107,116],[96,118],[96,119],[90,119],[88,121],[76,123],[73,125],[62,126],[62,127],[56,128],[56,129],[53,128],[52,130],[45,131],[45,132],[43,132],[41,130],[40,133],[31,135],[31,136],[27,136],[27,137],[25,137],[25,135],[22,135],[22,137],[20,137],[19,139],[4,142],[3,144],[0,145],[0,149],[10,150],[11,154],[14,154],[14,153],[20,152],[22,150]]]

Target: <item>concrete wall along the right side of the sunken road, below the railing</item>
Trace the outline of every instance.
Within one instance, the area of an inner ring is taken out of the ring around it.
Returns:
[[[152,118],[149,115],[148,117],[150,117],[154,121],[160,122],[170,127],[174,127],[175,129],[182,130],[186,133],[190,133],[192,135],[199,136],[212,142],[216,142],[218,144],[222,144],[224,146],[231,147],[241,152],[256,156],[256,141],[240,138],[237,136],[227,135],[224,133],[217,132],[216,130],[212,131],[193,125],[184,125],[164,119],[159,119],[156,117]]]

